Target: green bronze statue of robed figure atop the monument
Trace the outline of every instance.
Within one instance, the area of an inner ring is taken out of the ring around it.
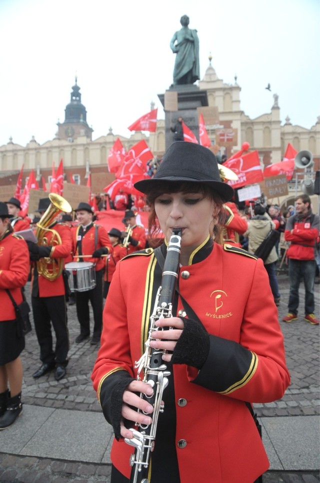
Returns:
[[[176,54],[173,70],[173,85],[193,84],[200,79],[199,39],[196,30],[188,28],[189,18],[180,19],[182,28],[173,35],[170,48]]]

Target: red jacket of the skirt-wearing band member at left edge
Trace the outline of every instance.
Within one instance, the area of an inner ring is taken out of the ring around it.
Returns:
[[[14,320],[15,311],[5,289],[16,304],[22,302],[21,287],[27,282],[29,251],[25,241],[12,233],[0,240],[0,321]]]

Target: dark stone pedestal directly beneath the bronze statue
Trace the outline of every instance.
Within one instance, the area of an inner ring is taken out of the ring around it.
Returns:
[[[173,132],[170,130],[170,127],[174,126],[179,116],[182,117],[184,124],[191,129],[196,139],[199,141],[199,122],[196,108],[208,105],[206,91],[200,90],[194,84],[172,85],[167,91],[177,92],[178,110],[165,111],[164,94],[158,94],[158,98],[161,101],[165,114],[165,150],[167,150],[170,144],[174,141]]]

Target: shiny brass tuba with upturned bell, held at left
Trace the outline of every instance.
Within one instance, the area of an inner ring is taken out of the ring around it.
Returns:
[[[72,211],[70,204],[59,194],[49,193],[49,200],[50,205],[43,213],[38,223],[36,223],[37,228],[35,236],[38,240],[37,244],[39,246],[47,245],[48,232],[52,233],[50,245],[61,245],[61,237],[59,233],[56,230],[48,228],[48,226],[50,226],[56,215],[61,211],[64,213],[70,213]],[[40,259],[38,262],[36,262],[36,269],[38,274],[53,282],[53,280],[55,280],[62,273],[63,260],[58,259],[58,261],[56,261],[55,259],[51,259],[49,257]]]

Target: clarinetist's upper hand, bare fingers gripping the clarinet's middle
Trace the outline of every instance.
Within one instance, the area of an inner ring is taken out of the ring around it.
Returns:
[[[162,349],[165,351],[173,352],[177,340],[182,334],[184,324],[178,317],[167,317],[166,319],[159,319],[155,322],[157,327],[171,328],[170,330],[158,330],[151,333],[151,337],[154,340],[150,342],[150,347],[154,349]],[[173,329],[172,329],[173,327]],[[172,354],[163,354],[162,360],[170,362]]]

